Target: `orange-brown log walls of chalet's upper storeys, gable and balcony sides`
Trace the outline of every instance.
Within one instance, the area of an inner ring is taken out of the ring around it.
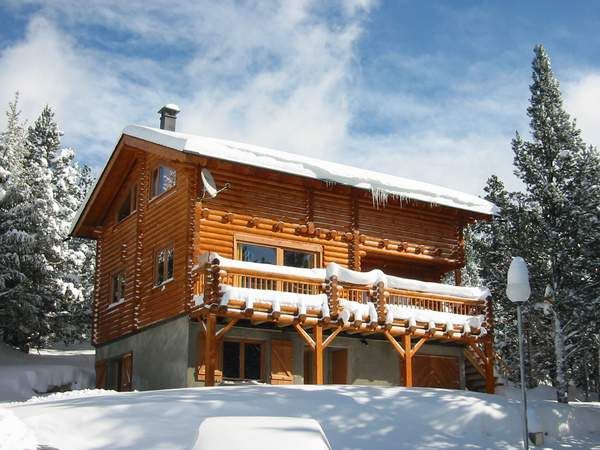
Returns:
[[[427,281],[462,265],[466,219],[457,210],[393,199],[377,209],[369,192],[347,186],[182,155],[154,144],[121,150],[121,160],[130,167],[119,165],[118,173],[126,175],[120,187],[110,186],[116,194],[95,228],[96,344],[189,311],[198,255],[213,251],[233,258],[242,235],[245,240],[274,239],[282,246],[312,244],[322,255],[321,265],[336,262],[355,270],[385,265],[390,273]],[[177,170],[176,187],[150,199],[152,172],[161,163]],[[211,170],[218,187],[229,183],[230,188],[200,201],[203,167]],[[117,223],[117,210],[133,183],[137,210]],[[155,254],[169,246],[175,255],[174,279],[157,287]],[[110,305],[112,275],[119,270],[127,279],[125,301]]]

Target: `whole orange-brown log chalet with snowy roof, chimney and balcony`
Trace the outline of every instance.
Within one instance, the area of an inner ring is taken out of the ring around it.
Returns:
[[[494,392],[478,197],[160,128],[124,129],[72,235],[97,242],[99,387],[252,380]]]

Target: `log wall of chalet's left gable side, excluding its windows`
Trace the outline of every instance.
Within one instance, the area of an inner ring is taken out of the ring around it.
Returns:
[[[184,313],[191,298],[191,250],[195,169],[140,152],[123,180],[101,232],[94,341],[110,341],[157,321]],[[152,171],[161,163],[177,171],[175,188],[150,199]],[[137,210],[117,223],[117,210],[137,183]],[[174,249],[174,277],[155,286],[155,253]],[[125,301],[111,305],[112,276],[124,270]]]

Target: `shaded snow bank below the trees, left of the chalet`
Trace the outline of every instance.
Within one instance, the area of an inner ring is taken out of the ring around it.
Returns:
[[[0,403],[94,385],[94,350],[49,349],[26,354],[0,343]]]

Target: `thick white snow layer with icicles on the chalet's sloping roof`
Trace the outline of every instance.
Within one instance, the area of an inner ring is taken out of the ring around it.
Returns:
[[[307,178],[370,190],[375,203],[388,197],[413,199],[466,211],[493,215],[498,208],[475,195],[429,183],[359,169],[256,145],[131,125],[123,134],[185,153],[271,169]]]

